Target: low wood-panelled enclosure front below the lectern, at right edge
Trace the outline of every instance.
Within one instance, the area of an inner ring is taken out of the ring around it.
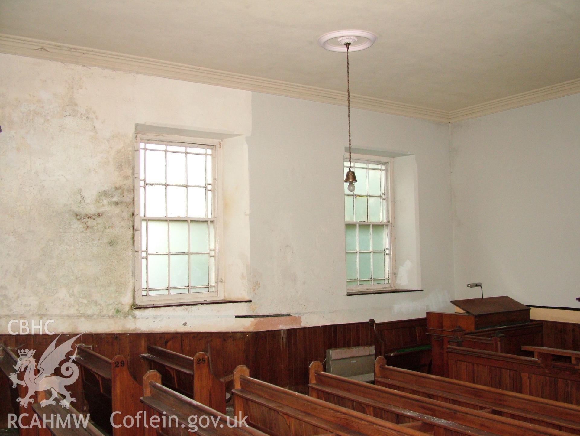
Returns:
[[[580,370],[571,363],[448,347],[450,379],[580,405]]]

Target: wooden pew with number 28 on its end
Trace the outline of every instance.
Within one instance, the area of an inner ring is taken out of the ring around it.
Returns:
[[[226,383],[212,374],[209,356],[205,352],[190,357],[147,345],[147,353],[141,357],[149,362],[150,369],[161,374],[165,386],[218,412],[226,413]]]

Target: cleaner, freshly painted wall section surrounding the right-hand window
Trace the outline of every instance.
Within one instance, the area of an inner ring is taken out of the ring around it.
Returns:
[[[353,110],[352,126],[357,149],[415,155],[425,292],[346,296],[346,109],[255,93],[248,149],[251,297],[259,313],[292,312],[307,325],[406,319],[453,298],[448,126],[362,110]],[[398,263],[406,260],[397,253]]]

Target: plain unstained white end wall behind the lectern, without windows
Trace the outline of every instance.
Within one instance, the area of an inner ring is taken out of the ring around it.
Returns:
[[[451,156],[457,297],[580,307],[580,94],[452,124]]]

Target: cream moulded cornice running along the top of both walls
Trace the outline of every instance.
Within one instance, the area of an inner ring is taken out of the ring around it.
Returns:
[[[39,39],[0,34],[0,52],[346,106],[346,92],[309,87],[251,75],[229,73],[227,71],[212,70],[147,57],[124,55],[122,53],[107,52],[74,45],[57,44],[56,42],[41,41]],[[580,92],[580,79],[451,112],[430,109],[429,107],[406,105],[405,103],[391,102],[389,100],[361,95],[351,96],[351,107],[448,123],[481,117],[578,92]]]

